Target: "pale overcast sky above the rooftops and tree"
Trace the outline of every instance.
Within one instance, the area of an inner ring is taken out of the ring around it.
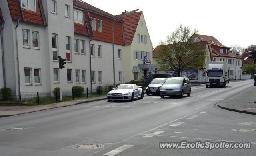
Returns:
[[[226,46],[256,44],[256,0],[84,0],[110,14],[143,11],[153,47],[180,24]]]

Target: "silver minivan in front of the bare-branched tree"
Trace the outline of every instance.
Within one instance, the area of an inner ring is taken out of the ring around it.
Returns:
[[[187,77],[168,78],[160,88],[160,97],[164,96],[180,96],[184,94],[190,96],[191,83]]]

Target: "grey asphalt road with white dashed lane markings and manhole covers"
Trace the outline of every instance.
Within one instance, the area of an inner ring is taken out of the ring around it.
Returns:
[[[253,87],[192,87],[190,97],[145,96],[134,102],[96,101],[0,118],[0,156],[191,156],[256,153],[255,115],[220,109],[216,103]],[[170,126],[172,125],[172,126]],[[9,130],[14,127],[25,129]],[[251,142],[250,149],[160,149],[159,142]],[[82,144],[82,145],[81,145]],[[85,147],[98,148],[77,148]]]

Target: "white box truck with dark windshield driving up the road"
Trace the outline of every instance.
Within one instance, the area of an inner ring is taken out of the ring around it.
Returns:
[[[229,69],[230,66],[227,62],[206,62],[206,88],[210,86],[226,86],[226,83],[229,83]]]

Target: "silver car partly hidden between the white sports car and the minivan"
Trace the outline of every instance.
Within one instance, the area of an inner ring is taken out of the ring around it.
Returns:
[[[148,86],[146,87],[146,94],[149,95],[150,93],[159,94],[160,88],[164,84],[167,78],[155,78],[153,79]]]

